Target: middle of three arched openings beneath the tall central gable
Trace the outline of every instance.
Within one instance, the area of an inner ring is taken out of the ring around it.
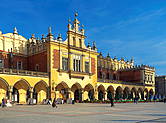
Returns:
[[[74,93],[74,100],[76,102],[82,102],[82,87],[79,83],[74,84],[71,87],[71,91]]]

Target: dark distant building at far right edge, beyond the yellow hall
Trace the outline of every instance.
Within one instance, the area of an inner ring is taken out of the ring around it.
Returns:
[[[166,97],[166,76],[155,77],[155,91],[161,99]]]

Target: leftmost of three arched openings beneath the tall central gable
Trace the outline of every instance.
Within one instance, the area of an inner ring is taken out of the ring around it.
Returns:
[[[59,92],[56,93],[56,98],[61,98],[66,103],[67,99],[69,98],[68,85],[65,82],[61,82],[56,86],[55,90]]]

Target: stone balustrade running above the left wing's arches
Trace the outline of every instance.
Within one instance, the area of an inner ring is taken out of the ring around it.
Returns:
[[[44,72],[17,70],[17,69],[8,69],[8,68],[0,68],[0,74],[35,76],[35,77],[46,77],[46,78],[48,77],[48,73]]]

